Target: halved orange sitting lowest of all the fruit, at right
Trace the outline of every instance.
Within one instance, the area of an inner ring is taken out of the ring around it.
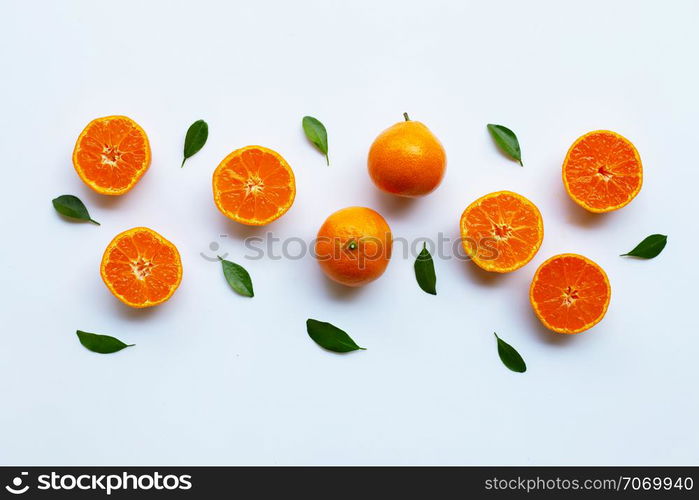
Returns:
[[[551,257],[536,270],[529,289],[534,312],[549,330],[580,333],[604,318],[612,289],[604,270],[574,253]]]

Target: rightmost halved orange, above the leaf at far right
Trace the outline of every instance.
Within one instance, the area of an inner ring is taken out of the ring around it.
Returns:
[[[643,184],[641,157],[628,139],[596,130],[576,140],[563,161],[563,184],[575,203],[590,212],[631,203]]]

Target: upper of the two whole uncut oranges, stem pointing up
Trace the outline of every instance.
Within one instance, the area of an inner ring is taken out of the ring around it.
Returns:
[[[387,128],[369,149],[369,175],[376,187],[398,196],[424,196],[442,182],[447,155],[425,125],[405,121]]]

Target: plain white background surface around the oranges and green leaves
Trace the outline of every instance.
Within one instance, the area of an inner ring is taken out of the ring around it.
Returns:
[[[1,463],[699,462],[696,2],[0,5]],[[414,201],[381,194],[366,171],[372,140],[404,111],[449,163]],[[153,150],[119,198],[71,165],[85,124],[110,114],[140,123]],[[328,128],[330,167],[303,135],[306,114]],[[199,118],[209,141],[180,169]],[[524,168],[496,150],[489,122],[517,133]],[[645,182],[628,207],[593,216],[560,169],[598,128],[634,142]],[[249,144],[296,174],[292,209],[262,229],[227,220],[211,195],[218,162]],[[330,283],[311,257],[245,259],[245,237],[310,240],[349,205],[381,212],[395,237],[454,238],[466,205],[501,189],[541,209],[541,250],[505,276],[440,259],[436,297],[400,252],[360,290]],[[64,193],[102,226],[56,214]],[[139,225],[184,265],[173,298],[141,311],[99,277],[112,237]],[[658,258],[618,256],[652,233],[669,235]],[[249,270],[255,298],[200,256],[212,242]],[[612,283],[606,318],[578,336],[543,329],[528,302],[536,267],[561,252],[592,258]],[[309,317],[368,350],[323,351]],[[94,354],[76,329],[137,345]],[[525,374],[502,365],[494,331]]]

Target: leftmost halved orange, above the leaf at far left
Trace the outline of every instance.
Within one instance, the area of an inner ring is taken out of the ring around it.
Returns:
[[[127,116],[96,118],[75,143],[73,166],[83,182],[98,193],[124,194],[150,166],[148,137]]]

